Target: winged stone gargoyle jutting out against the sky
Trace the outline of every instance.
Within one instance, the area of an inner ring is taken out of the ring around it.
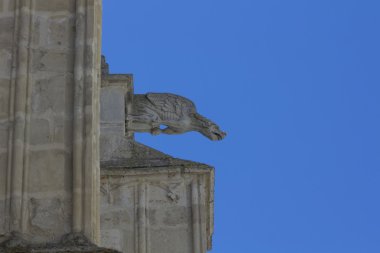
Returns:
[[[127,114],[127,131],[153,135],[198,131],[210,140],[226,136],[215,123],[197,113],[193,102],[170,93],[134,95],[132,111]],[[166,127],[161,128],[163,125]]]

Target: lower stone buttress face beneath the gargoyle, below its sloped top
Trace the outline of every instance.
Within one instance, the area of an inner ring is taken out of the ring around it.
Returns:
[[[126,253],[142,248],[205,253],[211,248],[213,169],[177,162],[131,167],[125,160],[102,167],[102,246]]]

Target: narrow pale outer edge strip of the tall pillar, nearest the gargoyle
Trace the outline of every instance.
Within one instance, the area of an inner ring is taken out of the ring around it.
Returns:
[[[98,25],[100,2],[86,0],[86,35],[84,57],[84,231],[94,241],[99,237],[99,89],[100,89],[100,37]]]

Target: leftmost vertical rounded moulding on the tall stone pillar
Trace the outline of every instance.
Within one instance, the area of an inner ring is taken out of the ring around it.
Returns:
[[[27,157],[27,140],[28,140],[28,112],[30,102],[28,99],[29,88],[29,48],[30,48],[30,22],[31,22],[31,2],[29,0],[18,0],[16,2],[16,22],[17,24],[17,58],[15,62],[15,89],[13,91],[13,132],[10,134],[12,138],[12,154],[10,155],[10,167],[8,169],[8,177],[10,179],[10,217],[11,231],[22,232],[23,217],[23,197],[25,190],[25,176],[27,176],[28,159]],[[17,96],[15,96],[17,94]],[[12,109],[10,109],[12,110]]]

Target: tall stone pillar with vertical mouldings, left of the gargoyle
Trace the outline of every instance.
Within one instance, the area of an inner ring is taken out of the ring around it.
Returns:
[[[98,239],[100,29],[100,0],[0,1],[0,241]]]

